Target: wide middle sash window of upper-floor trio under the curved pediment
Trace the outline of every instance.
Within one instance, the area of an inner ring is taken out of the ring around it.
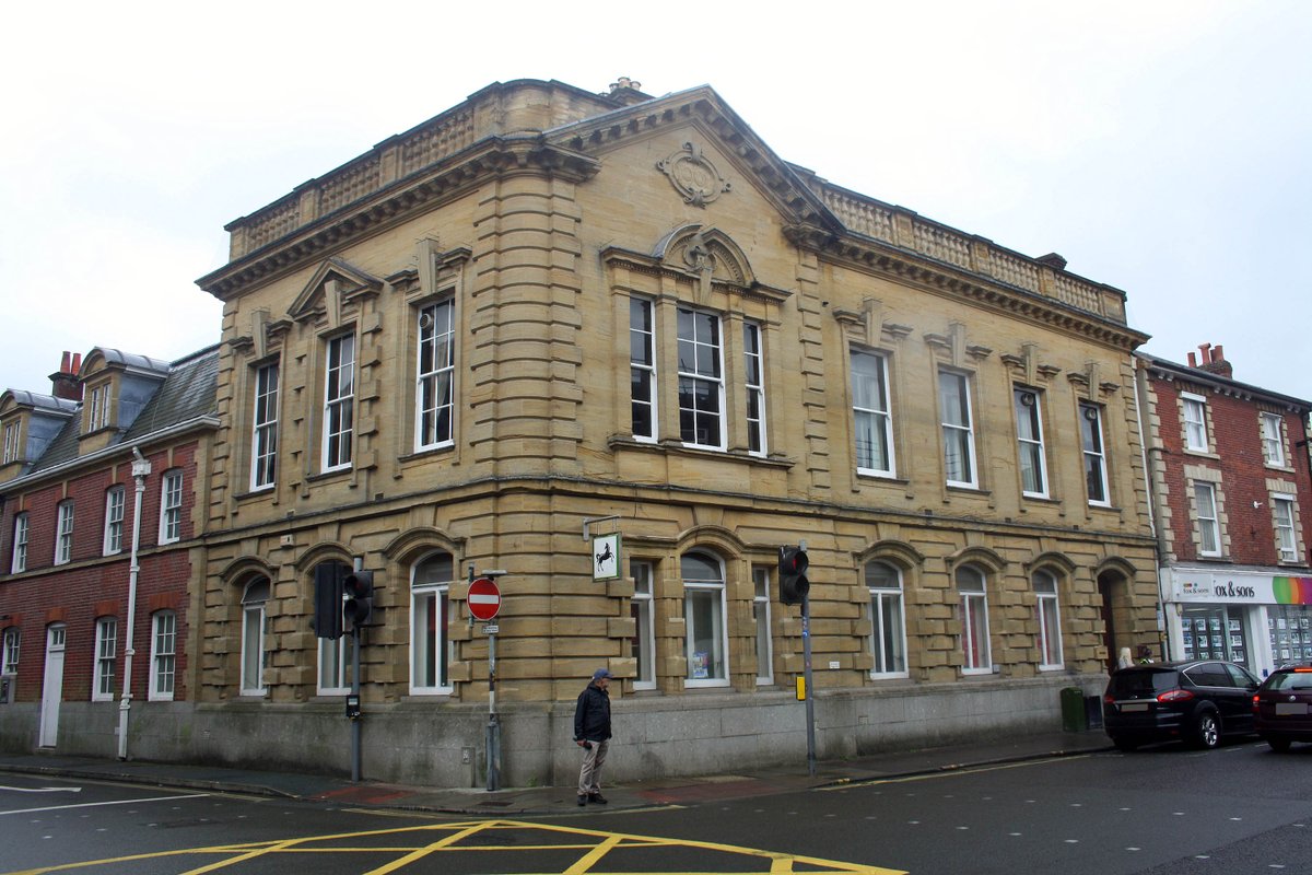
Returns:
[[[678,432],[684,446],[726,446],[723,356],[720,317],[680,307]]]

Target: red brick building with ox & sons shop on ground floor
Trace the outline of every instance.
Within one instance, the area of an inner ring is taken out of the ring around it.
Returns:
[[[1221,346],[1136,354],[1169,659],[1312,659],[1312,401],[1240,383]]]

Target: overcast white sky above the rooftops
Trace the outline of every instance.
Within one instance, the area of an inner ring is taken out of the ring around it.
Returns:
[[[484,85],[630,76],[710,84],[785,160],[1124,290],[1149,353],[1223,344],[1312,400],[1305,0],[73,0],[5,30],[0,390],[215,342],[226,223]]]

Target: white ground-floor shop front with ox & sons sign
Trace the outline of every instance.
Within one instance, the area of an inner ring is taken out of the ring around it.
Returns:
[[[1164,568],[1170,659],[1239,662],[1263,676],[1312,661],[1312,577]]]

